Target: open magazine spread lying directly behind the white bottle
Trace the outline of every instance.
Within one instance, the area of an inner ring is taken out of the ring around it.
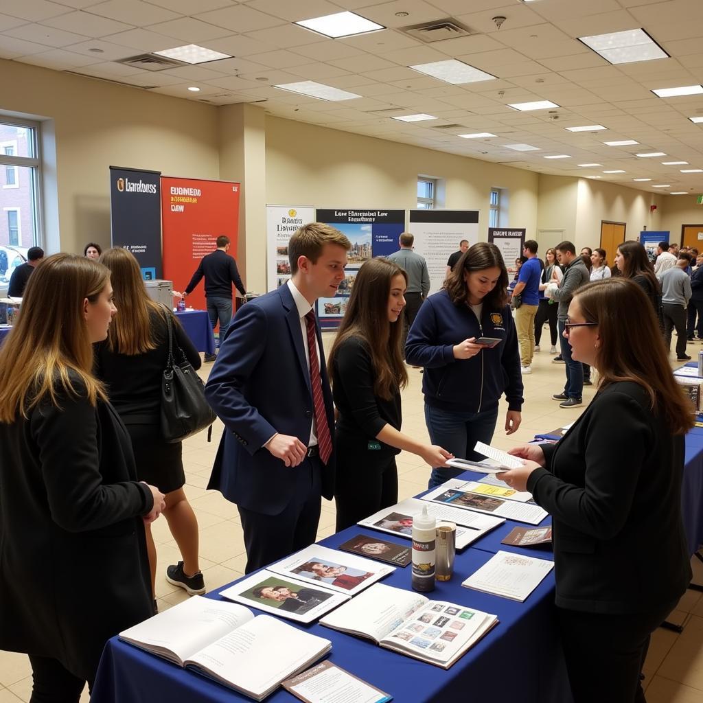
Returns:
[[[505,522],[502,517],[489,517],[470,510],[453,508],[450,505],[426,503],[418,498],[406,498],[405,501],[379,510],[356,524],[410,539],[413,534],[413,515],[423,512],[423,505],[427,505],[427,513],[436,518],[437,522],[448,520],[456,523],[457,549],[465,548],[486,532]]]

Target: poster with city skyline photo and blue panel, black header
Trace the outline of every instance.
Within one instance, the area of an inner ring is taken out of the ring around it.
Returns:
[[[405,210],[344,207],[318,209],[315,219],[337,228],[352,243],[352,250],[348,254],[347,276],[342,280],[337,295],[320,298],[317,302],[320,326],[330,329],[336,328],[344,317],[361,264],[371,257],[387,257],[399,250],[398,240],[405,231]]]

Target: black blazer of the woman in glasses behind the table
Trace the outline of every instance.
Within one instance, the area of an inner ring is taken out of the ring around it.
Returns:
[[[683,595],[691,569],[681,522],[683,437],[645,389],[613,383],[557,442],[527,489],[553,515],[556,604],[637,613]]]

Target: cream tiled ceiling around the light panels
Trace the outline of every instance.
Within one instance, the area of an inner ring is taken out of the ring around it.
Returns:
[[[388,29],[327,39],[292,24],[342,10]],[[505,17],[501,29],[492,20],[496,15]],[[424,44],[398,30],[450,17],[474,33]],[[636,27],[671,58],[610,65],[575,38]],[[235,58],[159,72],[117,63],[181,44]],[[259,103],[291,120],[536,172],[601,176],[652,193],[703,192],[703,174],[680,172],[703,168],[703,124],[688,120],[703,116],[703,96],[661,99],[650,92],[703,83],[703,0],[1,0],[0,58],[214,105]],[[446,58],[498,79],[454,86],[408,68]],[[333,103],[272,87],[302,80],[362,97]],[[200,92],[188,92],[188,86]],[[506,106],[536,100],[560,108],[551,114]],[[408,112],[437,120],[389,117]],[[449,124],[458,127],[437,129]],[[608,130],[565,130],[585,124]],[[484,131],[496,137],[457,136]],[[602,143],[618,139],[640,144]],[[504,147],[509,143],[539,150],[517,152]],[[666,157],[635,156],[651,151]],[[543,158],[554,154],[571,158]],[[577,166],[591,162],[602,167]],[[602,173],[615,169],[625,173]],[[671,188],[651,187],[664,183]]]

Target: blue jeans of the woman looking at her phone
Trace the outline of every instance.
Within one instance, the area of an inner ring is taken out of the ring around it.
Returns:
[[[427,431],[430,432],[430,441],[432,444],[439,444],[446,451],[451,451],[460,459],[480,461],[486,458],[477,454],[474,446],[477,441],[491,444],[497,420],[498,406],[480,413],[463,413],[440,410],[425,403],[425,423]],[[427,487],[439,486],[461,472],[461,469],[435,467]]]

